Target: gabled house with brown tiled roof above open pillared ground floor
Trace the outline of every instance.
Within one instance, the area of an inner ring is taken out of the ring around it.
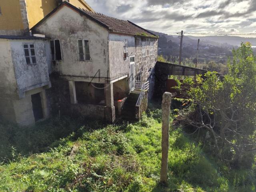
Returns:
[[[128,96],[136,78],[148,80],[156,62],[154,34],[131,22],[81,10],[68,3],[34,26],[32,32],[60,40],[62,60],[54,61],[53,71],[69,85],[70,95],[65,100],[70,99],[70,105],[65,104],[65,108],[82,114],[89,111],[91,116],[111,122],[115,119],[116,101]],[[141,37],[143,33],[146,35]],[[88,59],[80,59],[80,40],[88,43]],[[140,44],[136,45],[136,40]]]

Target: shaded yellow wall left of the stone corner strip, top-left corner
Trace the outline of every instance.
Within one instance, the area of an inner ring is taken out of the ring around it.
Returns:
[[[23,29],[19,0],[0,0],[0,30]]]

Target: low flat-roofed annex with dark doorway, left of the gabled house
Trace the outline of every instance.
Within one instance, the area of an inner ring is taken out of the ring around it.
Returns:
[[[23,126],[47,118],[46,89],[51,86],[47,39],[0,36],[0,50],[0,115]],[[26,57],[24,50],[33,56]],[[26,59],[32,58],[28,64]]]

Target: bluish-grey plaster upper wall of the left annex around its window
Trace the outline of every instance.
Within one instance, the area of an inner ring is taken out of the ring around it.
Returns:
[[[23,43],[35,44],[36,64],[26,64]],[[48,65],[50,62],[49,42],[42,40],[10,41],[10,46],[20,94],[50,84],[48,74]]]

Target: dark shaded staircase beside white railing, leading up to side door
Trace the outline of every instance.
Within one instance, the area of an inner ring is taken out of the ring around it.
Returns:
[[[122,108],[121,117],[123,119],[130,119],[130,120],[135,119],[135,105],[139,96],[140,96],[140,91],[134,90],[130,92]]]

